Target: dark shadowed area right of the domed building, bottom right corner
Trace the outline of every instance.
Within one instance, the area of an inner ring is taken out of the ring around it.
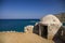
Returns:
[[[53,38],[53,41],[54,41],[55,43],[65,43],[64,32],[65,32],[64,28],[61,27],[61,28],[58,29],[58,31],[55,33],[55,35],[54,35],[54,38]]]

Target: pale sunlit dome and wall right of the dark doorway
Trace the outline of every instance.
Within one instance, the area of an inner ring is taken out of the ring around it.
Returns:
[[[54,34],[58,31],[62,23],[54,15],[47,15],[41,19],[41,24],[48,26],[48,38],[53,38]],[[49,38],[49,39],[51,39]]]

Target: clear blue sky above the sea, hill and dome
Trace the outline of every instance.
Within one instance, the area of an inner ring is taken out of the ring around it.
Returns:
[[[0,0],[0,19],[40,18],[64,12],[64,0]]]

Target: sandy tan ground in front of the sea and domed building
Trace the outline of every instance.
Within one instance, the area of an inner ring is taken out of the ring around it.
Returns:
[[[60,42],[61,41],[53,42],[52,40],[43,39],[35,33],[0,32],[0,43],[60,43]]]

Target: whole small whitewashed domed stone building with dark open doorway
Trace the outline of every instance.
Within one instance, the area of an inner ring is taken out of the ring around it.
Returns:
[[[38,28],[34,28],[34,31],[41,37],[53,39],[61,26],[62,23],[60,19],[54,15],[49,14],[42,17],[39,23],[36,23],[35,27]]]

